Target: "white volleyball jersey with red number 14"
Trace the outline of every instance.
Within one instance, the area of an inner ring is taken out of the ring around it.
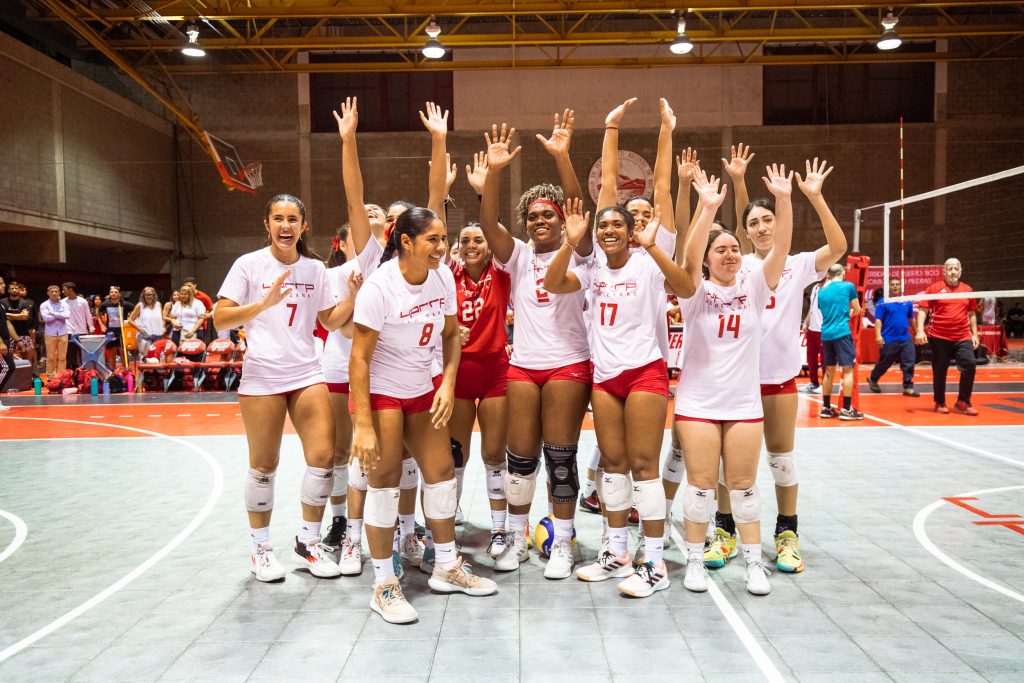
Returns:
[[[686,321],[676,415],[706,420],[764,417],[758,356],[761,318],[771,296],[764,270],[736,275],[722,287],[701,280],[689,299],[679,300]]]

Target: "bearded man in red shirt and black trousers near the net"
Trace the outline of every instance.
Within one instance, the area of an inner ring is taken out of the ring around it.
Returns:
[[[959,281],[963,270],[961,262],[954,258],[947,259],[943,265],[945,280],[932,283],[925,294],[962,294],[973,292],[970,285]],[[932,386],[935,393],[935,412],[945,415],[946,408],[946,372],[949,360],[954,359],[961,371],[959,393],[953,411],[963,415],[978,415],[971,405],[971,393],[974,390],[974,350],[978,348],[978,302],[969,297],[965,299],[940,299],[937,301],[922,301],[918,309],[918,334],[914,343],[932,347]],[[932,319],[928,331],[925,330],[925,318],[932,311]]]

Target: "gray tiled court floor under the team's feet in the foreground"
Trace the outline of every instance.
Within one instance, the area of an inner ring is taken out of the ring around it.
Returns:
[[[582,438],[581,473],[593,439]],[[412,569],[420,621],[391,626],[368,608],[369,564],[357,578],[251,579],[241,436],[0,441],[0,510],[28,527],[0,563],[0,680],[1022,681],[1024,524],[1001,523],[1024,517],[1022,444],[1024,427],[801,430],[806,571],[776,572],[771,595],[755,597],[733,561],[713,572],[717,591],[694,594],[674,544],[672,587],[633,600],[613,581],[546,581],[536,553],[494,574],[474,443],[461,542],[500,591],[433,594]],[[271,538],[297,567],[297,438],[283,451]],[[764,466],[760,485],[773,557]],[[939,504],[988,489],[1000,490],[972,496],[971,509]],[[577,528],[589,561],[600,519],[580,512]],[[13,539],[0,519],[0,553]]]

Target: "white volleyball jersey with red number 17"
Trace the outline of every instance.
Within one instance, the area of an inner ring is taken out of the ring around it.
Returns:
[[[665,357],[657,339],[657,330],[668,329],[665,275],[650,256],[633,254],[617,269],[594,261],[572,272],[589,294],[595,383]]]

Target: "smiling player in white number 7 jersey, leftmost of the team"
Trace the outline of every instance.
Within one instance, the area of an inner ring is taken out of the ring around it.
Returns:
[[[305,206],[291,195],[271,199],[264,212],[269,246],[241,256],[220,288],[214,312],[218,330],[246,327],[239,408],[249,443],[245,484],[257,581],[285,578],[270,544],[274,474],[286,414],[302,441],[302,523],[295,555],[316,577],[337,577],[338,565],[321,543],[321,520],[334,471],[334,421],[324,374],[309,334],[316,321],[328,330],[341,324],[324,263],[305,241]]]

